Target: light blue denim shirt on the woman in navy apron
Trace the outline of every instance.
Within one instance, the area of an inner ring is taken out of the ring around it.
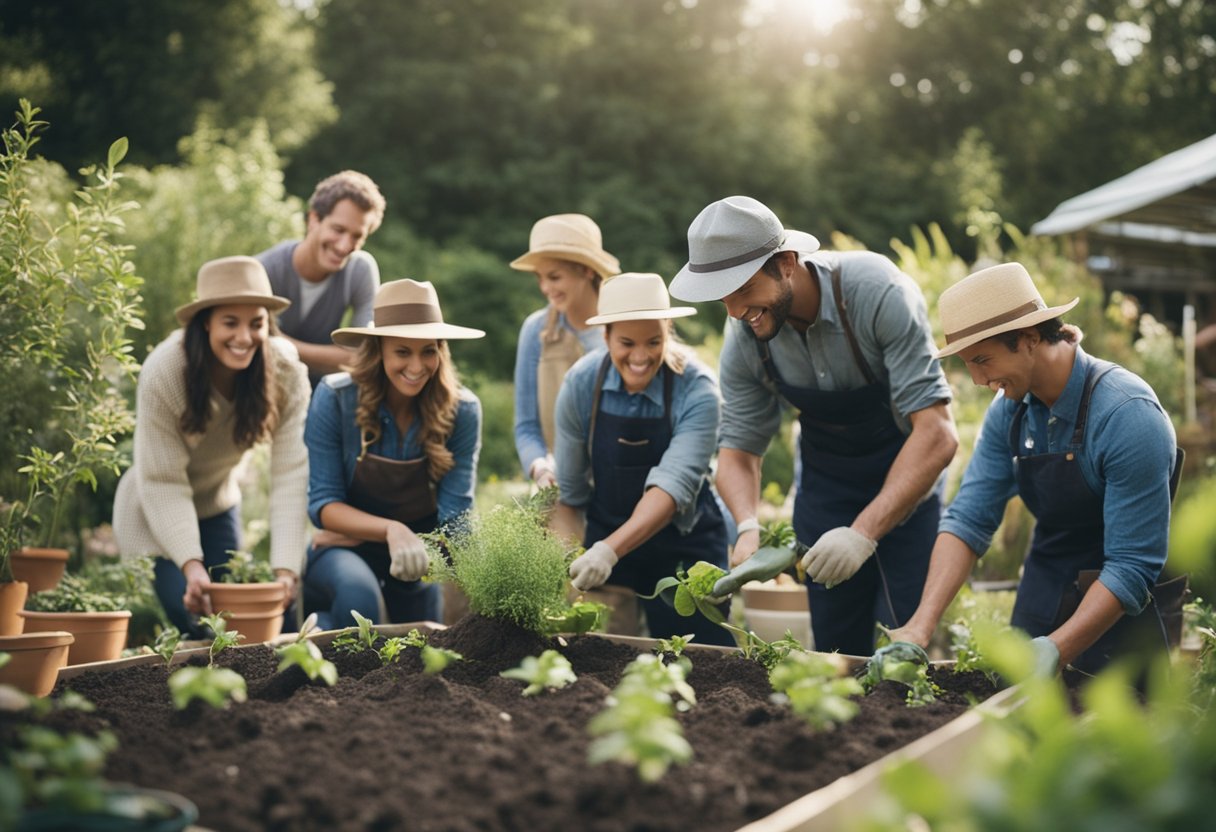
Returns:
[[[557,485],[562,502],[579,508],[591,502],[595,490],[589,433],[596,375],[606,353],[597,349],[579,359],[557,394]],[[617,367],[609,366],[599,406],[614,416],[663,416],[663,372],[657,372],[641,393],[626,393]],[[709,460],[717,445],[720,409],[717,380],[689,355],[671,386],[671,444],[646,477],[646,488],[662,488],[675,500],[674,522],[681,534],[691,532],[697,522],[697,494],[709,476]]]

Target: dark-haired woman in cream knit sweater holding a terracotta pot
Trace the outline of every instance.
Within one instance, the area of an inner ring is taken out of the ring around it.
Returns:
[[[241,484],[250,449],[269,442],[270,563],[295,595],[304,547],[304,414],[308,376],[271,313],[252,257],[198,270],[197,298],[178,309],[182,328],[152,350],[136,389],[135,460],[114,496],[114,536],[126,556],[156,555],[156,591],[169,620],[202,636],[191,613],[241,549]]]

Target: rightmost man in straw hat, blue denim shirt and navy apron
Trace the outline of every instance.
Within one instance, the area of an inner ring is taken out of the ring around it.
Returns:
[[[1036,636],[1036,671],[1094,673],[1114,652],[1165,646],[1158,606],[1139,613],[1165,564],[1181,459],[1153,389],[1086,354],[1059,317],[1076,299],[1048,308],[1020,264],[975,272],[939,305],[947,345],[938,355],[957,354],[997,395],[942,518],[921,606],[893,637],[929,643],[1018,494],[1037,523],[1012,623]],[[1097,580],[1079,575],[1093,570]]]

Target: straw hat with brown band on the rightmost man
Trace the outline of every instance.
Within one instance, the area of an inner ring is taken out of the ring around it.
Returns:
[[[1048,307],[1020,263],[1002,263],[958,281],[938,298],[946,358],[985,338],[1059,317],[1080,298]]]

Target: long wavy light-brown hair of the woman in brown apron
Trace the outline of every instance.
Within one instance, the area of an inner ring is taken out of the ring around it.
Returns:
[[[460,380],[452,366],[447,342],[437,341],[435,344],[439,347],[439,367],[417,395],[418,434],[432,482],[443,479],[456,465],[447,449],[447,438],[456,426],[456,410],[460,407]],[[355,423],[359,425],[360,433],[360,459],[381,438],[379,406],[389,387],[381,355],[381,339],[367,337],[347,367],[359,386]]]

